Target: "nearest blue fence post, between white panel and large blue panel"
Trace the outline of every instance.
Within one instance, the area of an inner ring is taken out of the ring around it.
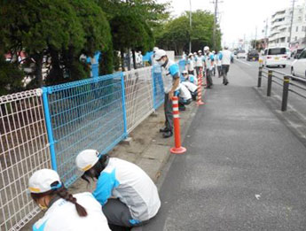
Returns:
[[[54,149],[54,137],[53,137],[53,131],[52,131],[52,123],[51,123],[51,116],[50,116],[50,110],[49,110],[49,100],[48,100],[48,88],[43,87],[43,113],[44,113],[44,119],[47,127],[47,135],[49,140],[49,149],[51,154],[51,166],[52,169],[55,171],[58,171],[58,165],[56,161],[56,153]]]

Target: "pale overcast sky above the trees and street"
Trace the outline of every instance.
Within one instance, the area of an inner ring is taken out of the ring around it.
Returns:
[[[157,0],[164,3],[166,0]],[[221,29],[223,35],[223,44],[231,45],[232,42],[238,42],[238,39],[255,38],[255,28],[257,27],[257,38],[263,37],[262,33],[265,24],[263,21],[283,8],[290,7],[292,0],[219,0],[219,13],[221,17]],[[305,0],[297,0],[302,4]],[[178,16],[184,11],[189,11],[189,0],[172,0],[172,15]],[[208,10],[214,11],[212,0],[192,0],[192,11]]]

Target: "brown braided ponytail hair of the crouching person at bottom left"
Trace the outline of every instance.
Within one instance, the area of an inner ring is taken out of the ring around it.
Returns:
[[[59,184],[59,181],[55,181],[55,182],[51,183],[51,186],[57,186],[58,184]],[[76,198],[74,196],[72,196],[67,191],[67,189],[65,188],[64,185],[62,185],[59,189],[51,189],[51,190],[49,190],[47,192],[44,192],[44,193],[31,193],[31,197],[32,197],[33,200],[35,200],[36,203],[41,197],[47,196],[47,195],[50,195],[51,197],[57,195],[60,198],[63,198],[64,200],[66,200],[66,201],[68,201],[72,204],[75,204],[75,209],[76,209],[77,214],[80,217],[86,217],[87,216],[87,212],[86,212],[85,208],[81,204],[77,203]]]

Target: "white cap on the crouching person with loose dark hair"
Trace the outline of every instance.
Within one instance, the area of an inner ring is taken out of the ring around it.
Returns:
[[[98,150],[82,150],[75,158],[75,164],[82,172],[86,172],[98,162]]]

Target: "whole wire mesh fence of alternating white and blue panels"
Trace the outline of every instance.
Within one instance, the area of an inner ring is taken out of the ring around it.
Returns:
[[[0,230],[20,230],[40,209],[32,173],[52,168],[66,186],[83,149],[106,153],[164,101],[151,66],[0,96]]]

